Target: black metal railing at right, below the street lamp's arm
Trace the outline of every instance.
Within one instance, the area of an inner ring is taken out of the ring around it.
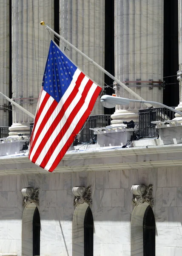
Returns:
[[[159,129],[152,121],[167,121],[173,119],[174,112],[167,108],[147,108],[139,110],[139,138],[159,137]]]

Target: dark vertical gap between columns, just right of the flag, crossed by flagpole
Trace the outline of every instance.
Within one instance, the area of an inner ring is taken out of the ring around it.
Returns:
[[[114,76],[114,1],[105,1],[105,70]],[[113,79],[105,75],[105,85],[111,87]],[[114,90],[105,87],[105,94],[112,95]],[[105,114],[113,114],[115,108],[104,108]]]

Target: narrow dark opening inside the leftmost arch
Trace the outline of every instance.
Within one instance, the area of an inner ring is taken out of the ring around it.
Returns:
[[[40,255],[40,214],[36,207],[33,217],[33,256]]]

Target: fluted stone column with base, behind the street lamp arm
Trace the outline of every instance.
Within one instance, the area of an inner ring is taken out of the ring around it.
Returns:
[[[115,0],[115,76],[155,102],[162,102],[163,96],[163,5],[163,0]],[[134,99],[122,87],[116,89],[117,96]],[[146,106],[117,106],[112,124],[137,122],[141,108]]]

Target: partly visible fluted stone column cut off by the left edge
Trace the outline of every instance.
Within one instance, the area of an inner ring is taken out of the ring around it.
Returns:
[[[0,1],[0,92],[9,97],[9,0]],[[1,96],[0,126],[9,125],[8,105]]]

